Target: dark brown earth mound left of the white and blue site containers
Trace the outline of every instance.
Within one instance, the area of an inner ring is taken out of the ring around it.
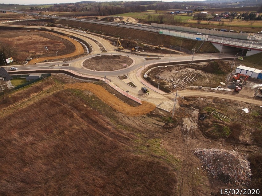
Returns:
[[[225,74],[231,71],[230,66],[224,61],[220,60],[213,61],[208,65],[205,65],[204,67],[200,68],[200,70],[213,74]]]

